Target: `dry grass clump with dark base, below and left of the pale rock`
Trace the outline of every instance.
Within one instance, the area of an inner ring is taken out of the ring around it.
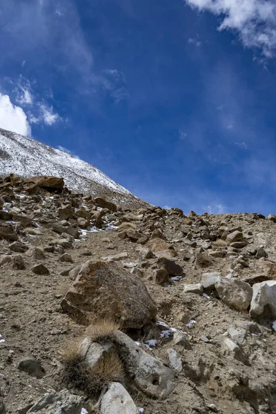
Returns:
[[[106,354],[95,366],[91,367],[79,355],[79,344],[79,340],[71,342],[61,353],[63,384],[81,388],[87,395],[92,395],[101,391],[101,388],[109,382],[120,382],[124,379],[124,364],[116,351]]]

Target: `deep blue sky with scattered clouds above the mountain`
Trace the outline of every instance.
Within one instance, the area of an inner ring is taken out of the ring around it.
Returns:
[[[159,206],[276,212],[276,4],[1,0],[0,127]]]

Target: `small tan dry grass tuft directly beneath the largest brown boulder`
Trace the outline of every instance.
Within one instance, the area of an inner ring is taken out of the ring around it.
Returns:
[[[86,336],[88,336],[92,342],[110,342],[114,338],[115,332],[120,329],[120,324],[114,319],[101,319],[92,322],[92,324],[86,328]]]

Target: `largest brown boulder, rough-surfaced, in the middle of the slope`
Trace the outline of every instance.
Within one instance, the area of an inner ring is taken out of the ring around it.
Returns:
[[[77,320],[112,318],[126,328],[141,328],[156,315],[155,302],[139,277],[115,263],[88,260],[61,302]]]

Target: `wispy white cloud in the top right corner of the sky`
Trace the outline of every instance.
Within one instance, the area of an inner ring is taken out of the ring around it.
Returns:
[[[276,3],[273,0],[184,0],[200,11],[221,15],[219,30],[234,30],[246,48],[266,57],[276,51]]]

